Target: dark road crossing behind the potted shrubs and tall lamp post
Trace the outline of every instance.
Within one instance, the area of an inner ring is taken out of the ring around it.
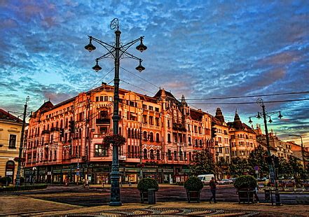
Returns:
[[[82,188],[81,186],[48,186],[46,190],[10,194],[83,207],[96,207],[109,203],[110,189],[109,187],[102,188],[102,186],[91,186],[90,188]],[[201,191],[201,202],[207,202],[210,196],[209,186],[205,186]],[[262,190],[259,191],[259,198],[261,202],[264,201]],[[281,193],[280,199],[282,204],[309,204],[309,193]],[[232,185],[218,186],[217,200],[219,202],[238,202],[235,188]],[[186,202],[186,190],[183,186],[160,186],[156,193],[156,201]],[[121,202],[140,202],[139,191],[136,186],[123,186],[121,188]]]

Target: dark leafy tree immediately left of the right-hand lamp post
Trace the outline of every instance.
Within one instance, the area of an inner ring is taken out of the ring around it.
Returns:
[[[254,174],[254,167],[259,166],[259,174],[261,177],[268,176],[269,168],[266,162],[267,151],[262,146],[258,146],[249,154],[248,163],[250,165],[250,174]]]

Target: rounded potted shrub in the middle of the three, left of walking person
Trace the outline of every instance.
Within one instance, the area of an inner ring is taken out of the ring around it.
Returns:
[[[184,188],[186,188],[186,195],[188,197],[188,202],[195,201],[200,202],[200,190],[204,187],[202,181],[197,177],[193,176],[189,178],[184,183]]]

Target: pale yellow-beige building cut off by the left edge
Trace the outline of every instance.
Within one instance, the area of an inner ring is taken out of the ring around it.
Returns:
[[[16,178],[22,120],[0,109],[0,177]]]

